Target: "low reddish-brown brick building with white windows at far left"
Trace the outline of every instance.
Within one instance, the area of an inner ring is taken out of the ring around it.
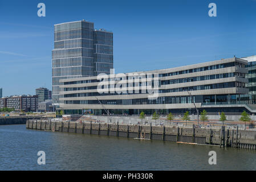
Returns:
[[[38,108],[38,96],[10,96],[0,98],[0,108],[8,107],[15,111],[36,111]]]

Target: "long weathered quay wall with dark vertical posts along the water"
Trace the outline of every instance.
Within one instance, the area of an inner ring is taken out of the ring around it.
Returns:
[[[106,135],[114,137],[143,138],[166,142],[210,144],[220,147],[255,150],[256,131],[237,129],[201,129],[195,127],[165,127],[148,125],[119,125],[92,122],[58,122],[27,120],[27,129],[52,130],[68,133]]]

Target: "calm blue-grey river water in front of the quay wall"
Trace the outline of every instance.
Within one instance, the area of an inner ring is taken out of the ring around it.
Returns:
[[[256,152],[0,125],[0,170],[256,170]],[[209,165],[209,151],[217,165]],[[37,152],[46,152],[46,165]]]

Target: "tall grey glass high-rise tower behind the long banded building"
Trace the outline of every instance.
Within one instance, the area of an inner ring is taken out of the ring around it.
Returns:
[[[95,30],[80,20],[54,25],[52,103],[59,103],[59,80],[110,73],[113,68],[113,33]]]

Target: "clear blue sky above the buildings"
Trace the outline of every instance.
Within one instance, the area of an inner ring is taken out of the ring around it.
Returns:
[[[46,5],[46,17],[37,5]],[[217,17],[208,5],[217,5]],[[51,89],[54,24],[86,19],[113,31],[116,73],[256,55],[256,1],[0,0],[3,96]]]

